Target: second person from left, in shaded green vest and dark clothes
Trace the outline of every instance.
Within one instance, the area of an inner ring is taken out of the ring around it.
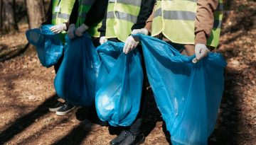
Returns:
[[[95,44],[95,47],[100,45],[100,33],[97,29],[100,28],[101,21],[105,16],[105,10],[107,8],[107,1],[105,0],[75,0],[72,13],[70,14],[68,26],[68,37],[73,39],[75,37],[81,37],[82,33],[87,31],[91,36]],[[78,76],[79,77],[79,76]],[[72,104],[65,104],[65,108],[60,108],[56,111],[57,115],[65,115],[75,108]],[[101,122],[97,117],[95,104],[90,108],[90,121],[84,120],[85,130],[96,131],[102,125],[106,125],[106,122]],[[93,123],[91,123],[93,122]]]

